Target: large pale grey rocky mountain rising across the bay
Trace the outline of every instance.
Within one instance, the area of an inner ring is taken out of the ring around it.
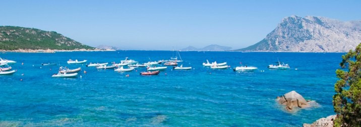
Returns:
[[[361,42],[361,21],[290,16],[260,42],[238,51],[346,52]]]

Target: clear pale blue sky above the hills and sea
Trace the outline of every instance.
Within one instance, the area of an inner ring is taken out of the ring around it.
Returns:
[[[361,20],[361,1],[1,1],[0,25],[56,31],[83,44],[233,49],[262,40],[284,17]]]

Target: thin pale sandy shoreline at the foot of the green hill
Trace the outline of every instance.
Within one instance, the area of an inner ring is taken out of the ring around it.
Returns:
[[[110,49],[74,49],[74,50],[58,50],[58,49],[17,49],[17,50],[0,50],[0,52],[23,52],[23,53],[55,53],[55,52],[73,52],[73,51],[115,51]]]

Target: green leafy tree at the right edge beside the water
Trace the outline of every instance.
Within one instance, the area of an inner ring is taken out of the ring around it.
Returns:
[[[334,126],[361,126],[361,43],[342,55],[340,66],[332,101],[337,113]]]

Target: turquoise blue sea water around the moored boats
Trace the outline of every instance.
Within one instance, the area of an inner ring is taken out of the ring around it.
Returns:
[[[183,66],[193,70],[168,67],[157,76],[141,76],[144,68],[116,73],[66,61],[119,62],[128,56],[143,63],[168,59],[172,51],[2,53],[18,62],[12,66],[18,72],[0,76],[0,126],[302,126],[334,114],[335,70],[342,54],[189,51],[180,55]],[[291,69],[268,70],[277,58]],[[202,66],[206,59],[259,69],[211,70]],[[81,67],[87,74],[51,78],[58,66],[42,67],[42,62]],[[284,111],[275,98],[292,90],[320,106]]]

